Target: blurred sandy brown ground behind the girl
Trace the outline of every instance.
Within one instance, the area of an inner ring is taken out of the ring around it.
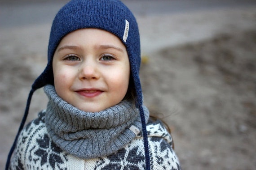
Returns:
[[[145,103],[172,129],[184,170],[255,170],[256,6],[139,16]],[[0,169],[34,79],[50,23],[0,29]],[[29,120],[46,106],[35,92]]]

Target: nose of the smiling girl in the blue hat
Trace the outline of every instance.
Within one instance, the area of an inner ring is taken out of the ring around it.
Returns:
[[[84,61],[79,68],[80,80],[97,80],[100,76],[96,61]]]

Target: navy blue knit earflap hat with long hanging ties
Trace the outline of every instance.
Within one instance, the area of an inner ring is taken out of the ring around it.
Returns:
[[[49,38],[48,64],[44,72],[35,80],[30,91],[25,114],[23,116],[18,134],[10,150],[6,168],[8,169],[10,157],[15,148],[19,133],[26,122],[31,97],[36,89],[53,83],[52,61],[54,52],[67,34],[82,28],[97,28],[115,34],[125,45],[129,56],[131,75],[136,91],[136,104],[140,110],[142,133],[144,139],[146,169],[150,169],[146,121],[142,108],[142,92],[139,78],[141,64],[140,36],[137,21],[132,12],[119,0],[71,0],[57,13]]]

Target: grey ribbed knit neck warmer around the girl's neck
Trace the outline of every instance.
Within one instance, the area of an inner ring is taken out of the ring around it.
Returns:
[[[84,159],[115,153],[141,130],[139,111],[131,102],[120,102],[96,113],[84,112],[60,98],[53,85],[44,86],[49,98],[45,122],[49,135],[62,150]],[[148,109],[143,106],[146,122]]]

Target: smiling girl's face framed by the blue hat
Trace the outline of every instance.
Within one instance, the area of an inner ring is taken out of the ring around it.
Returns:
[[[81,29],[66,35],[53,56],[54,86],[66,102],[86,112],[121,102],[130,76],[128,54],[118,37]]]

